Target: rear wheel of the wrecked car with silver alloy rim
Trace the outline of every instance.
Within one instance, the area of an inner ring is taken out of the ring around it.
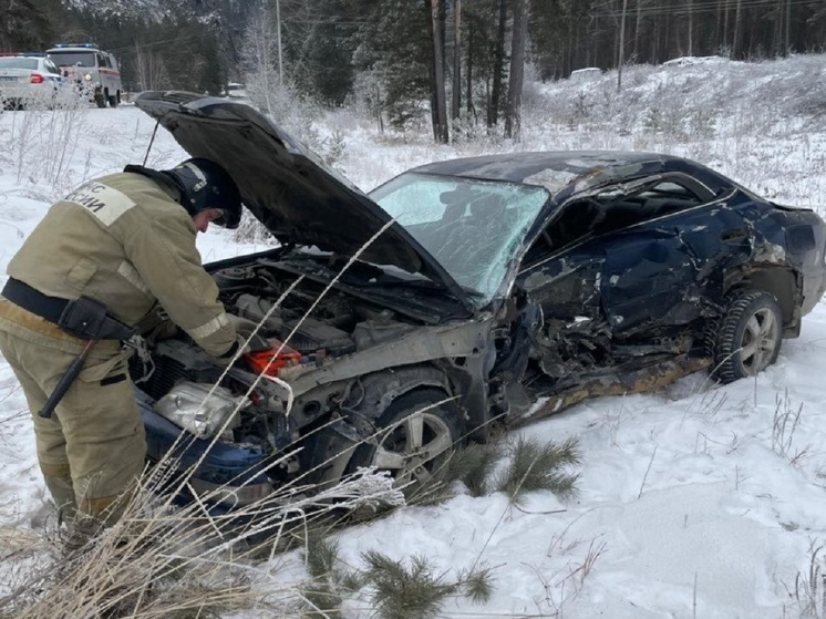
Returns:
[[[730,383],[754,376],[777,361],[783,312],[768,292],[741,292],[729,300],[710,337],[716,380]]]

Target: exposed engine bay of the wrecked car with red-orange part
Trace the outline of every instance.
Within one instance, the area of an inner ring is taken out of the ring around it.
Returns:
[[[224,443],[264,453],[297,444],[301,429],[347,392],[326,393],[328,406],[312,401],[292,410],[299,393],[288,383],[415,329],[415,321],[390,309],[337,289],[324,293],[327,286],[309,278],[297,283],[298,276],[272,266],[259,259],[213,274],[238,332],[257,330],[254,349],[233,367],[225,369],[183,333],[154,342],[151,362],[132,361],[133,380],[154,410],[198,439],[220,433]]]

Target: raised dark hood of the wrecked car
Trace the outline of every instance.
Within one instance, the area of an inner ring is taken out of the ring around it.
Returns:
[[[146,91],[135,105],[157,120],[193,157],[220,164],[244,205],[281,243],[317,246],[350,257],[391,217],[353,184],[254,107],[179,91]],[[466,295],[399,224],[361,255],[443,283],[463,305]]]

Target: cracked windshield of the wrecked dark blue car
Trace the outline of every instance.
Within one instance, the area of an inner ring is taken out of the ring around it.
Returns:
[[[462,287],[487,302],[548,193],[509,183],[405,174],[370,197]]]

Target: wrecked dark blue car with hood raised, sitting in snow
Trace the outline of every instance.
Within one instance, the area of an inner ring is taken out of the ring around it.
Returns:
[[[681,157],[462,158],[365,195],[247,105],[180,92],[136,105],[220,163],[281,243],[207,267],[266,338],[221,389],[224,369],[185,336],[151,344],[151,375],[132,367],[149,455],[188,427],[195,492],[221,487],[228,505],[366,465],[425,484],[496,423],[699,370],[754,375],[826,289],[817,214]]]

